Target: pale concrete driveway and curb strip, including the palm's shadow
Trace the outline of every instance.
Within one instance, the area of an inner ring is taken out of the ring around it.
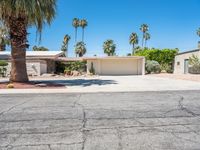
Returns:
[[[31,80],[63,84],[64,89],[0,90],[1,93],[85,93],[200,90],[200,82],[154,76],[97,76],[81,78],[32,78]]]

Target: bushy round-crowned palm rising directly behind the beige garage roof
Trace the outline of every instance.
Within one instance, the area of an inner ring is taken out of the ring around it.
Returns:
[[[107,40],[103,43],[103,50],[104,53],[108,56],[114,56],[115,54],[116,45],[114,44],[113,40]]]

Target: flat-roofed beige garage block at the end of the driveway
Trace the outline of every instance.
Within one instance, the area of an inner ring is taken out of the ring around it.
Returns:
[[[97,75],[143,75],[145,58],[141,56],[96,57],[87,59],[87,72],[93,66]]]

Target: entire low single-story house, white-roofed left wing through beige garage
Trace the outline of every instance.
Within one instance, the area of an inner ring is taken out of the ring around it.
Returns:
[[[145,57],[143,56],[108,56],[108,57],[63,57],[61,51],[27,51],[26,63],[29,76],[40,76],[56,71],[55,62],[86,61],[87,73],[91,66],[97,75],[144,75]],[[10,51],[0,52],[0,60],[8,61],[8,74],[11,69]]]

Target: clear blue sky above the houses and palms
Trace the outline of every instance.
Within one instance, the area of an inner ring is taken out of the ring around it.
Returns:
[[[85,18],[87,55],[102,55],[102,45],[113,39],[116,53],[131,52],[129,35],[139,27],[149,25],[149,47],[179,48],[180,51],[197,48],[196,30],[200,27],[200,0],[58,0],[57,15],[51,26],[45,26],[40,45],[50,50],[60,50],[65,34],[71,36],[69,56],[74,56],[74,28],[72,19]],[[29,29],[30,49],[38,45],[35,29]],[[79,40],[81,29],[78,30]]]

